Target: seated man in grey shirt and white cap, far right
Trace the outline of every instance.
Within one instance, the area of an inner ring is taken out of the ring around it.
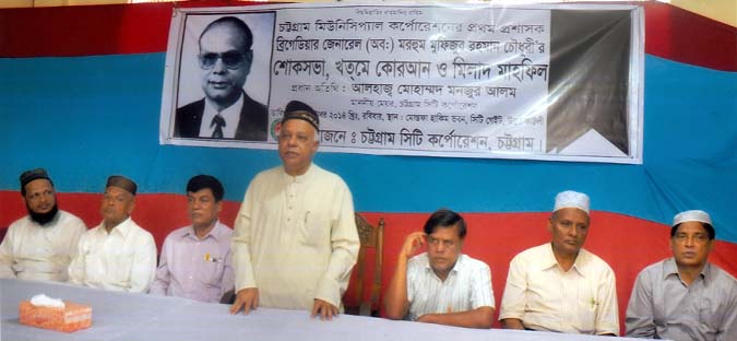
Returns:
[[[737,281],[709,262],[715,236],[704,211],[674,217],[673,258],[649,266],[634,282],[628,337],[737,340]]]

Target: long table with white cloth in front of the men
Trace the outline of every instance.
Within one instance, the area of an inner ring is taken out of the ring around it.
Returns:
[[[92,306],[93,326],[63,333],[21,325],[19,303],[36,294]],[[228,305],[181,297],[108,292],[66,283],[0,280],[0,339],[23,340],[604,340],[523,330],[478,330],[341,315],[312,319],[306,310],[259,308],[230,315]],[[610,339],[607,339],[610,340]]]

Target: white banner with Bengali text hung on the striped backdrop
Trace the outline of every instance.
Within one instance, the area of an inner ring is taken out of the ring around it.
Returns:
[[[632,5],[175,9],[159,140],[274,149],[283,109],[323,151],[642,162]]]

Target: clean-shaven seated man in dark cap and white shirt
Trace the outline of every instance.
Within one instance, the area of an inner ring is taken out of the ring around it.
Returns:
[[[111,291],[147,292],[156,271],[154,236],[131,220],[136,186],[114,175],[100,207],[103,223],[80,239],[69,281]]]

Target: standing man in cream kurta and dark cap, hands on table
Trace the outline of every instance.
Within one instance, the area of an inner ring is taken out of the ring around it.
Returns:
[[[231,314],[258,306],[338,314],[359,242],[348,187],[312,163],[318,143],[317,113],[289,102],[278,131],[282,166],[255,176],[236,219]]]

